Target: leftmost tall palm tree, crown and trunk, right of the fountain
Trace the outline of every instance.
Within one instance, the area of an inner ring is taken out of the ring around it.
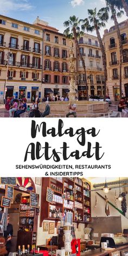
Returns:
[[[69,17],[68,21],[65,21],[63,23],[67,29],[64,31],[64,34],[68,37],[74,37],[75,40],[75,47],[76,47],[76,56],[79,56],[81,62],[82,62],[82,67],[84,68],[84,74],[85,74],[85,84],[86,84],[86,93],[87,93],[87,100],[88,100],[88,87],[87,87],[87,74],[86,74],[86,66],[85,66],[85,60],[80,52],[80,46],[78,43],[78,39],[80,36],[82,36],[84,33],[83,31],[80,30],[80,20],[79,18],[76,18],[76,16],[71,16]]]

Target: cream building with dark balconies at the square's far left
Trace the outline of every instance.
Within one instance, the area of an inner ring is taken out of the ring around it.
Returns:
[[[2,15],[0,21],[0,104],[6,78],[6,97],[41,98],[42,29]]]

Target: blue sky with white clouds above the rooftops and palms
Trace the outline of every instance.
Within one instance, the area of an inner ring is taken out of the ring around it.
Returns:
[[[17,20],[33,23],[37,16],[47,21],[49,25],[63,32],[63,22],[69,16],[76,15],[79,18],[87,17],[87,9],[105,6],[105,0],[0,0],[1,14],[16,18]],[[119,21],[125,20],[126,16]],[[106,27],[112,25],[108,21]],[[103,34],[104,28],[101,29]],[[95,33],[93,33],[95,35]]]

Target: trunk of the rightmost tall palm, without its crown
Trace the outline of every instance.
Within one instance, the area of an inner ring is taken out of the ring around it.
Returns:
[[[123,56],[123,44],[121,41],[121,35],[120,35],[120,30],[119,30],[119,24],[117,21],[116,14],[114,14],[114,7],[111,6],[111,11],[112,11],[112,16],[114,20],[114,25],[117,30],[117,37],[118,37],[118,42],[119,42],[119,52],[120,52],[120,60],[119,60],[119,94],[120,94],[120,99],[122,95],[122,88],[121,88],[121,83],[122,83],[122,56]]]

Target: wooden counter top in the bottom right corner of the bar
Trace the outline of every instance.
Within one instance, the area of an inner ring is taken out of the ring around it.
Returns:
[[[124,245],[124,246],[119,246],[116,249],[112,249],[110,251],[105,251],[104,249],[95,249],[89,252],[86,252],[84,255],[85,256],[105,256],[105,255],[109,255],[112,252],[116,252],[116,251],[122,251],[123,249],[128,249],[128,245]]]

